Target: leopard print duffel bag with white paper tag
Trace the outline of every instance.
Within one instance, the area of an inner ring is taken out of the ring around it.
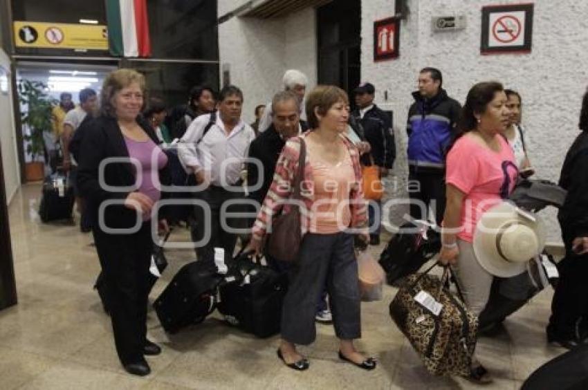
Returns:
[[[478,319],[463,304],[461,290],[454,296],[443,277],[407,277],[390,304],[390,316],[434,375],[468,375],[476,346]]]

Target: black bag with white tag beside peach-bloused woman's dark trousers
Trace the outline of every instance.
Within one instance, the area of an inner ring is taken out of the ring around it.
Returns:
[[[221,286],[219,311],[230,324],[257,337],[279,333],[287,274],[252,261],[241,261],[238,267],[244,277]]]

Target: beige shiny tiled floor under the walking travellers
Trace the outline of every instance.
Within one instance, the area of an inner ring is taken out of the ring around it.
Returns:
[[[0,389],[470,389],[460,378],[429,375],[389,319],[383,301],[362,305],[358,346],[376,355],[366,372],[338,361],[331,326],[302,348],[311,369],[299,373],[275,356],[278,338],[258,340],[213,315],[203,324],[166,335],[153,311],[149,335],[163,354],[149,359],[147,378],[127,375],[116,358],[109,317],[92,290],[99,266],[91,236],[71,225],[44,225],[36,209],[39,185],[21,189],[10,205],[19,304],[0,312]],[[379,254],[381,248],[374,250]],[[170,266],[151,299],[163,289],[190,250],[170,250]],[[538,366],[562,353],[547,346],[544,326],[551,290],[506,320],[506,331],[479,340],[479,358],[495,375],[486,389],[519,389]]]

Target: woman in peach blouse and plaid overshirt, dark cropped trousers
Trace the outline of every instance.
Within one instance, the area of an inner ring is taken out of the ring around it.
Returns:
[[[344,136],[349,119],[347,93],[336,86],[317,86],[306,100],[306,114],[311,131],[286,142],[255,221],[249,249],[261,250],[268,224],[291,196],[304,143],[304,239],[284,299],[282,342],[277,355],[292,369],[309,368],[309,361],[298,353],[296,344],[314,342],[316,302],[326,285],[340,340],[339,358],[371,370],[376,368],[376,360],[365,358],[353,346],[353,340],[361,336],[361,320],[358,268],[350,228],[359,229],[365,241],[368,235],[358,150]]]

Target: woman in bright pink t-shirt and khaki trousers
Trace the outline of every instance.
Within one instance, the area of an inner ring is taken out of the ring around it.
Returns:
[[[493,275],[479,265],[472,236],[481,215],[508,197],[518,173],[513,150],[502,135],[508,125],[506,102],[498,82],[473,86],[463,105],[457,140],[447,156],[447,205],[439,261],[454,267],[466,305],[476,315],[486,306]],[[478,362],[468,379],[490,382]]]

